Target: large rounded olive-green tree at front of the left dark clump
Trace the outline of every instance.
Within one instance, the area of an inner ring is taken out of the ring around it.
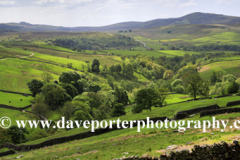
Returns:
[[[55,110],[59,106],[63,106],[65,102],[72,100],[65,89],[54,83],[45,84],[42,87],[41,96],[51,110]]]

